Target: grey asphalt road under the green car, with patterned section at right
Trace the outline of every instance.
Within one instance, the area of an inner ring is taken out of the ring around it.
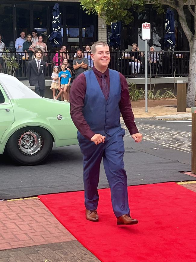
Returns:
[[[124,162],[128,185],[196,180],[179,173],[191,170],[190,126],[159,120],[135,121],[144,139],[135,143],[126,131]],[[82,173],[78,145],[54,148],[42,164],[33,167],[15,166],[1,156],[0,199],[83,190]],[[102,165],[99,188],[105,187],[108,182]]]

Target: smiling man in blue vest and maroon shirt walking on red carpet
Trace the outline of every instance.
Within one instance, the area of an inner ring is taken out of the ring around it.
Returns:
[[[109,46],[98,41],[91,47],[93,68],[81,73],[71,87],[71,118],[78,129],[78,142],[83,154],[86,219],[98,222],[100,163],[111,190],[112,208],[118,225],[137,224],[130,216],[127,176],[124,170],[123,136],[120,113],[131,136],[140,142],[142,135],[134,123],[125,77],[108,69]]]

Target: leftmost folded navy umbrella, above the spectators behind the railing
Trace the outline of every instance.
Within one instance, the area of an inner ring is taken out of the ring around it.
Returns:
[[[53,47],[60,47],[62,46],[62,34],[61,16],[58,4],[55,4],[52,9],[52,28],[53,32],[49,35],[48,40]]]

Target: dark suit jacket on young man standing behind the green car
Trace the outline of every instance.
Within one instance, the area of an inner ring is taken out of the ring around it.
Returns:
[[[30,86],[35,86],[35,88],[39,86],[39,88],[42,90],[46,88],[45,85],[46,62],[41,60],[40,70],[38,72],[37,63],[35,59],[28,61],[26,74]]]

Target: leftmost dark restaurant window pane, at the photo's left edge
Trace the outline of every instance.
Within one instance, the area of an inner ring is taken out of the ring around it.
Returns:
[[[5,43],[5,47],[9,47],[9,43],[15,41],[12,4],[0,4],[0,33],[2,34],[2,41]]]

